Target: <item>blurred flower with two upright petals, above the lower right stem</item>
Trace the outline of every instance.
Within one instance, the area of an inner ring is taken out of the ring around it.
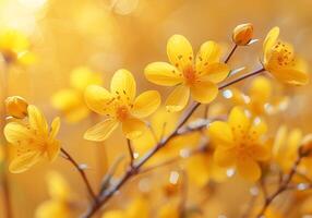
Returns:
[[[302,141],[302,132],[300,129],[287,130],[287,126],[281,125],[273,144],[273,158],[280,166],[284,172],[287,172],[292,167],[298,157],[298,148]]]

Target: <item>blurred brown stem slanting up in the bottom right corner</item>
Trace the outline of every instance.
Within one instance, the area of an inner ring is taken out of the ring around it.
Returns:
[[[267,207],[273,203],[273,201],[283,192],[285,192],[286,190],[288,190],[289,187],[289,183],[292,179],[292,177],[296,174],[297,168],[300,165],[302,158],[304,156],[299,155],[297,160],[293,162],[291,170],[289,171],[289,173],[286,175],[286,178],[283,180],[281,184],[278,186],[278,189],[269,196],[267,196],[265,198],[265,203],[262,207],[262,209],[260,210],[259,215],[256,216],[257,218],[261,218],[264,213],[266,211]]]

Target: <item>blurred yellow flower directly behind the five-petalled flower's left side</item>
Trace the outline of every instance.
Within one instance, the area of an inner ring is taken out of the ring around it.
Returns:
[[[79,66],[71,73],[70,88],[56,93],[51,98],[51,104],[64,114],[68,122],[79,122],[91,113],[84,101],[85,88],[89,85],[101,84],[103,80],[99,73],[91,71],[86,66]]]

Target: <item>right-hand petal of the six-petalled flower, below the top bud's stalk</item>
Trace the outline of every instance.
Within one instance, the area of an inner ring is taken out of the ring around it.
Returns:
[[[230,73],[230,69],[225,63],[213,63],[202,70],[201,80],[211,81],[213,83],[223,82]]]

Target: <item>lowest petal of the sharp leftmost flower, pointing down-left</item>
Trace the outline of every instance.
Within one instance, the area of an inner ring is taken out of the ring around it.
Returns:
[[[9,166],[9,170],[12,173],[21,173],[28,170],[41,158],[41,153],[29,152],[15,157]]]

